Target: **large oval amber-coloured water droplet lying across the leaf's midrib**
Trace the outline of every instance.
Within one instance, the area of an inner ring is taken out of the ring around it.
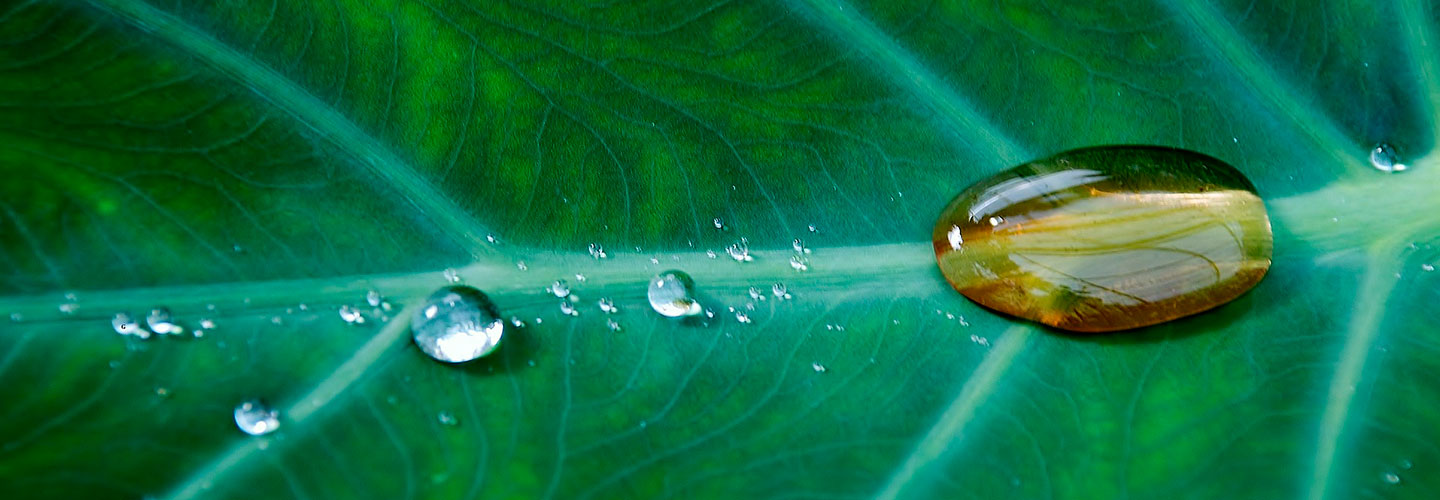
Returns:
[[[955,290],[1074,331],[1135,329],[1228,303],[1270,268],[1270,218],[1217,159],[1115,146],[975,183],[935,226]]]

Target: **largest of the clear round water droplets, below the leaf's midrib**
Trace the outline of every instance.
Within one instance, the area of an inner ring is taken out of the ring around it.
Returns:
[[[410,318],[415,344],[446,363],[490,354],[500,346],[504,330],[505,321],[490,297],[465,285],[436,290]]]

